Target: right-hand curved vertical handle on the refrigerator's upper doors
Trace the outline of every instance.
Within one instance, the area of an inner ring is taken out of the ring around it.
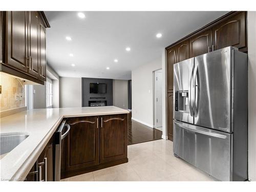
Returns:
[[[196,80],[197,80],[197,84],[196,84]],[[194,110],[194,114],[195,117],[198,116],[198,102],[199,102],[199,77],[198,77],[198,66],[196,66],[195,71],[194,71],[194,76],[193,76],[193,110]]]

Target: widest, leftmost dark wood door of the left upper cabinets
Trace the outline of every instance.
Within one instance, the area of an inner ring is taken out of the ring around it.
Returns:
[[[13,68],[27,72],[28,60],[28,12],[6,13],[6,38],[4,62]]]

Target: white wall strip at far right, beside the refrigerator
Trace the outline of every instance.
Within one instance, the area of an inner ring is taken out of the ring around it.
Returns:
[[[248,174],[256,181],[256,12],[248,11]]]

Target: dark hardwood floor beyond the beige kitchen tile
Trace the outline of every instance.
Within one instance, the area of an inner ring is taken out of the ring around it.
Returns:
[[[162,139],[162,132],[128,118],[128,145]]]

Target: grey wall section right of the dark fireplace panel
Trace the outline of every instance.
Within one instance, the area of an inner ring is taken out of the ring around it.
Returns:
[[[113,105],[128,109],[128,81],[113,80]]]

